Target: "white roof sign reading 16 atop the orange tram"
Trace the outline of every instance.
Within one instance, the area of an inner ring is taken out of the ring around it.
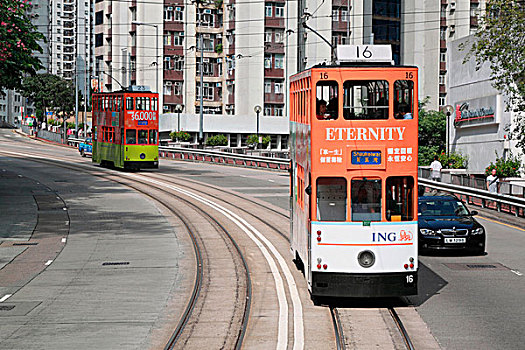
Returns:
[[[339,45],[337,59],[340,62],[391,62],[390,45]]]

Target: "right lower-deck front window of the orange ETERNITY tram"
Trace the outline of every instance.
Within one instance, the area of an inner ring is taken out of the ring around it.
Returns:
[[[386,219],[414,219],[414,179],[412,176],[392,176],[386,179]]]

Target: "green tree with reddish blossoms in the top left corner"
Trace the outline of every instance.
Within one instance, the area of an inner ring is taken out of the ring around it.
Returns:
[[[28,0],[0,0],[0,90],[20,89],[24,75],[43,68],[34,52],[44,36],[31,23]]]

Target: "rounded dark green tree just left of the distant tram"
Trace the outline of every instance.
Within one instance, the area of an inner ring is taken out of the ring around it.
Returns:
[[[24,79],[22,95],[28,97],[37,110],[53,110],[70,114],[75,108],[75,88],[71,81],[53,74],[37,74]],[[42,119],[43,116],[39,116]]]

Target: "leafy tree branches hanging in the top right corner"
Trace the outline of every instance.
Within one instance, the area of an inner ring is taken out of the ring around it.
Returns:
[[[490,65],[492,85],[516,113],[512,136],[525,153],[525,2],[488,0],[480,22],[465,61],[473,55],[476,69]]]

